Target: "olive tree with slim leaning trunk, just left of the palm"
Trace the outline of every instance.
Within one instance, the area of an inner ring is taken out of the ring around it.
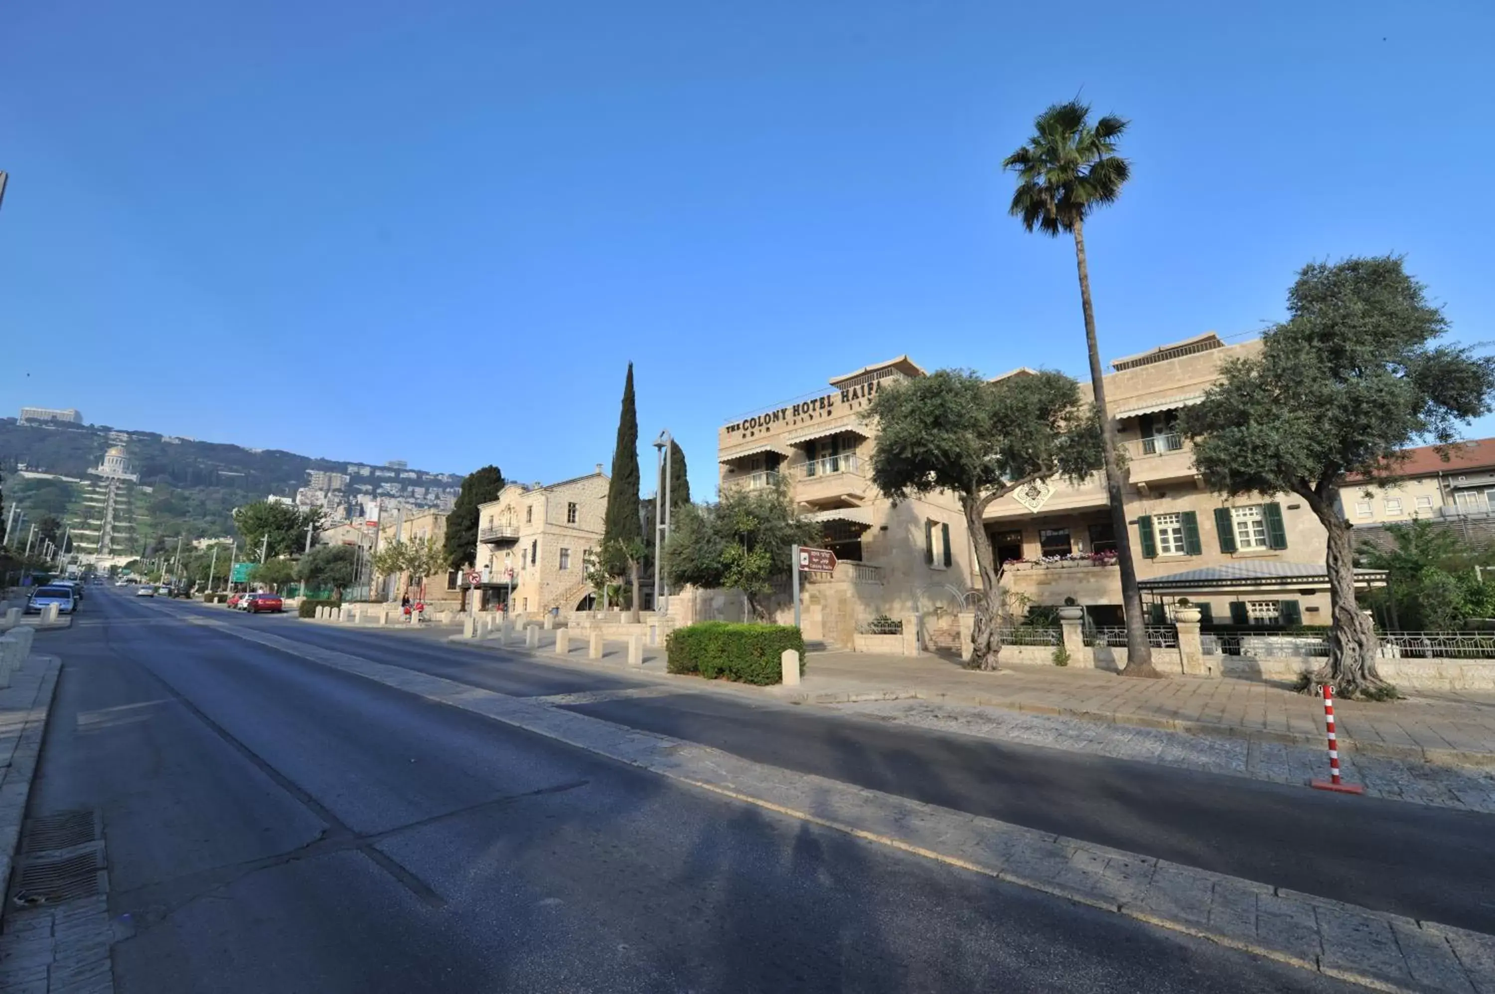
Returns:
[[[1002,564],[985,513],[1020,487],[1073,481],[1102,465],[1100,426],[1079,384],[1060,372],[1018,372],[996,383],[940,369],[878,392],[869,408],[878,441],[872,481],[891,501],[948,490],[960,501],[981,572],[972,665],[996,670]]]

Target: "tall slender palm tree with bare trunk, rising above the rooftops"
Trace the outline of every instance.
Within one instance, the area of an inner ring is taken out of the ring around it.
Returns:
[[[1127,161],[1117,155],[1117,139],[1127,123],[1106,115],[1090,123],[1090,106],[1079,100],[1055,103],[1033,121],[1033,138],[1002,160],[1002,167],[1018,175],[1011,214],[1029,232],[1058,238],[1075,236],[1075,262],[1079,268],[1079,302],[1085,311],[1085,345],[1090,348],[1090,383],[1105,439],[1106,496],[1115,531],[1117,565],[1121,569],[1121,607],[1127,620],[1126,676],[1156,677],[1153,650],[1142,617],[1142,592],[1136,586],[1132,562],[1132,537],[1126,526],[1121,495],[1121,466],[1117,459],[1117,429],[1106,413],[1106,387],[1096,345],[1096,309],[1090,302],[1090,265],[1085,260],[1085,217],[1091,209],[1114,203],[1121,185],[1132,175]]]

